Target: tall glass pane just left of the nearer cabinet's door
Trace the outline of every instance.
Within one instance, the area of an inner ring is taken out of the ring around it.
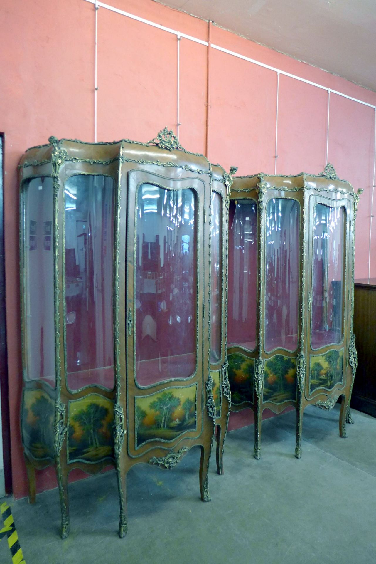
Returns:
[[[67,385],[114,387],[114,180],[70,177],[65,197]]]

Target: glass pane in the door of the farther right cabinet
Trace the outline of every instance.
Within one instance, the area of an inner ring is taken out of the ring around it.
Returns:
[[[343,338],[346,210],[316,204],[313,210],[311,345]]]

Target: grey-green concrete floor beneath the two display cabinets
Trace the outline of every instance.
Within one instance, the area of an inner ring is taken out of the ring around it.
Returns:
[[[9,501],[26,564],[371,564],[376,562],[376,420],[354,412],[347,439],[339,406],[304,413],[303,455],[294,457],[295,413],[227,435],[225,475],[210,464],[212,501],[199,498],[198,448],[174,470],[135,466],[128,479],[128,533],[117,536],[114,472],[70,484],[70,536],[61,540],[57,490]],[[11,564],[6,539],[0,562]]]

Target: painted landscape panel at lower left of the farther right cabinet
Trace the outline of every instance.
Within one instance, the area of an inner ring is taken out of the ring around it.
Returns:
[[[228,355],[228,380],[231,388],[231,402],[238,405],[253,403],[253,378],[255,362],[253,358],[240,352]]]

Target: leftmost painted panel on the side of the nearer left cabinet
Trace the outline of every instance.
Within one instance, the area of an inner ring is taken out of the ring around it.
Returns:
[[[25,390],[22,436],[28,451],[35,459],[54,457],[55,403],[42,390]]]

